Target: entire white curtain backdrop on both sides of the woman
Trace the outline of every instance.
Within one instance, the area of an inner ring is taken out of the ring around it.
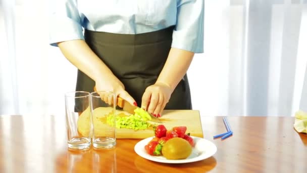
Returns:
[[[0,2],[0,114],[63,115],[76,68],[48,45],[46,1]],[[188,70],[193,109],[307,111],[307,0],[205,0],[204,29],[205,52]]]

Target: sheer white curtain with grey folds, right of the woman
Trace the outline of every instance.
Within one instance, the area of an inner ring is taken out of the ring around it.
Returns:
[[[303,102],[307,1],[205,2],[205,53],[189,69],[194,108],[206,115],[294,115]]]

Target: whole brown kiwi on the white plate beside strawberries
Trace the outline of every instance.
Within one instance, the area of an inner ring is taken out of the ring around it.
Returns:
[[[162,147],[162,154],[167,159],[185,159],[192,153],[192,147],[185,139],[172,138]]]

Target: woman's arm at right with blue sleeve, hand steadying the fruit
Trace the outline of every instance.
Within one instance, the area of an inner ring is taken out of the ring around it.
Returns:
[[[168,59],[156,83],[148,86],[142,97],[142,108],[149,113],[161,116],[194,53],[203,52],[203,10],[203,0],[177,1],[177,20]]]

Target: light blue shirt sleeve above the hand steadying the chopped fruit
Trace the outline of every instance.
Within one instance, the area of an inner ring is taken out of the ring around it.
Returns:
[[[172,47],[203,53],[204,0],[178,0]]]

